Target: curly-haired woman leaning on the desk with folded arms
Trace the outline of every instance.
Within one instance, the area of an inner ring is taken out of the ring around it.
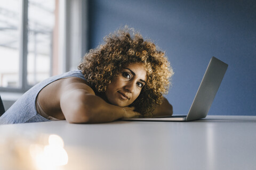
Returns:
[[[134,116],[172,115],[163,98],[173,72],[164,53],[125,27],[85,54],[78,70],[28,90],[0,124],[67,120],[103,123]]]

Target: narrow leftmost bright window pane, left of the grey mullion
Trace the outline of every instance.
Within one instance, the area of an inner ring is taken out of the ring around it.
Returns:
[[[16,1],[0,2],[0,87],[18,87],[19,11]]]

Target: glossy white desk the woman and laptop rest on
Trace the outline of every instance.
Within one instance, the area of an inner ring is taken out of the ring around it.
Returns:
[[[0,125],[0,133],[16,130],[60,135],[69,156],[63,169],[256,169],[256,116]]]

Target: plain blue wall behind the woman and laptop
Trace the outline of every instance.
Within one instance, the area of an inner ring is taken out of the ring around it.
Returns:
[[[215,56],[229,67],[209,114],[256,115],[255,1],[97,0],[89,15],[90,48],[127,24],[166,52],[175,72],[166,96],[174,114],[187,114]]]

